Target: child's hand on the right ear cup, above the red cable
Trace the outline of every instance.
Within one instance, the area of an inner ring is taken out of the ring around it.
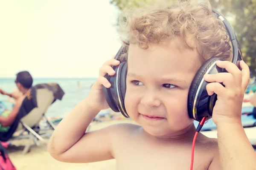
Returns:
[[[219,122],[241,124],[244,91],[250,81],[249,67],[244,61],[240,61],[241,71],[229,61],[218,61],[216,64],[225,68],[228,73],[204,75],[205,81],[211,82],[207,85],[208,95],[215,93],[218,98],[213,108],[212,120],[216,125]]]

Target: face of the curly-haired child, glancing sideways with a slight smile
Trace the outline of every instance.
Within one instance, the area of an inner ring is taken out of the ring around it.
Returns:
[[[154,136],[184,130],[193,122],[187,98],[201,63],[195,51],[178,46],[179,41],[173,40],[146,50],[134,44],[129,47],[125,108]]]

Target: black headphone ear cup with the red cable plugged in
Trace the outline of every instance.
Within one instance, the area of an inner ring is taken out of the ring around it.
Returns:
[[[208,82],[204,80],[204,74],[223,72],[222,68],[216,66],[216,61],[218,60],[223,59],[218,57],[208,59],[195,74],[188,95],[188,113],[191,119],[200,121],[204,116],[207,116],[207,119],[212,117],[211,109],[213,109],[213,106],[215,105],[217,96],[208,96],[206,90]]]

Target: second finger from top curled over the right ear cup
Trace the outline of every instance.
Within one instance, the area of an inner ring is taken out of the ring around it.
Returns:
[[[204,80],[207,82],[223,83],[223,85],[228,88],[235,86],[234,77],[230,73],[205,74]]]

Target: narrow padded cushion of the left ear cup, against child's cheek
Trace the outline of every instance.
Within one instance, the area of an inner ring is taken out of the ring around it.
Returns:
[[[117,76],[117,97],[119,101],[119,111],[123,116],[129,117],[125,110],[125,92],[126,92],[126,75],[127,75],[127,62],[120,64]]]

